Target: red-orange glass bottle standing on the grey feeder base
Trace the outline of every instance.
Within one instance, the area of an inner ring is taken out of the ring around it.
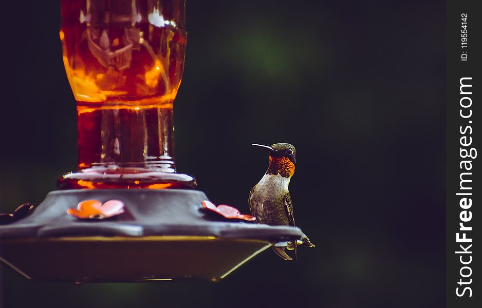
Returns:
[[[175,172],[172,109],[184,0],[63,0],[63,62],[77,101],[79,171],[61,188],[193,187]]]

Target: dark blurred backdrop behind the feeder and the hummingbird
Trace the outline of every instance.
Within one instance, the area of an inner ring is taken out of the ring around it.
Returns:
[[[10,211],[75,169],[76,109],[59,1],[2,11],[0,207]],[[77,286],[1,265],[0,306],[441,307],[444,2],[188,1],[187,28],[178,170],[247,213],[267,167],[250,144],[294,144],[296,222],[317,247],[290,263],[265,252],[216,284]]]

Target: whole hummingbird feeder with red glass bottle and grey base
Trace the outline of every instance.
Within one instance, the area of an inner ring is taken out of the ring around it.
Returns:
[[[215,206],[176,171],[184,0],[63,0],[78,169],[35,209],[0,215],[0,260],[29,279],[217,281],[299,228]]]

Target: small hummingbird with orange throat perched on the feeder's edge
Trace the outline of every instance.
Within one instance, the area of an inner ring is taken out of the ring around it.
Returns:
[[[249,192],[248,205],[251,215],[256,217],[257,223],[296,226],[293,202],[288,190],[296,164],[296,149],[289,143],[275,143],[271,146],[253,144],[253,146],[268,150],[269,165],[266,174]],[[277,243],[272,248],[284,260],[292,261],[293,259],[286,254],[285,248],[294,249],[295,258],[298,259],[296,246],[300,244],[314,247],[309,238],[303,234],[301,240]]]

